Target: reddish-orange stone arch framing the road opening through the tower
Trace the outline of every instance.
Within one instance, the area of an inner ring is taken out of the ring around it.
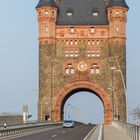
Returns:
[[[100,85],[88,81],[77,81],[69,83],[60,90],[53,105],[53,121],[61,121],[63,119],[64,103],[72,94],[79,90],[90,91],[101,99],[104,106],[104,124],[111,124],[112,106],[109,95]]]

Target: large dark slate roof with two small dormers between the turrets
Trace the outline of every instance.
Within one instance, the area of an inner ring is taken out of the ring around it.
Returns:
[[[68,16],[71,12],[72,16]],[[93,16],[97,12],[98,16]],[[107,11],[104,0],[61,0],[57,25],[106,25]]]

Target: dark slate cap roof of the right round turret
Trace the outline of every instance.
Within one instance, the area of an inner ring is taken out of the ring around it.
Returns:
[[[122,6],[129,8],[125,0],[110,0],[110,2],[108,3],[108,7],[112,6]]]

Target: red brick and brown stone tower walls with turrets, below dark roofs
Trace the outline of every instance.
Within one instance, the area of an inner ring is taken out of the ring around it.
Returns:
[[[63,119],[64,98],[76,89],[89,89],[104,105],[104,123],[110,124],[112,96],[110,66],[117,66],[119,58],[125,79],[126,20],[128,8],[113,6],[107,9],[108,25],[57,25],[58,9],[51,6],[37,8],[39,23],[40,93],[39,120],[50,116],[53,121]],[[118,48],[120,53],[116,50]],[[84,64],[81,64],[84,63]],[[126,98],[119,74],[114,74],[115,110],[126,121]]]

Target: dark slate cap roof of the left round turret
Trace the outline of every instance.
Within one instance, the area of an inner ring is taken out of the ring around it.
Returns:
[[[51,6],[51,7],[57,7],[55,0],[40,0],[36,8],[41,6]]]

